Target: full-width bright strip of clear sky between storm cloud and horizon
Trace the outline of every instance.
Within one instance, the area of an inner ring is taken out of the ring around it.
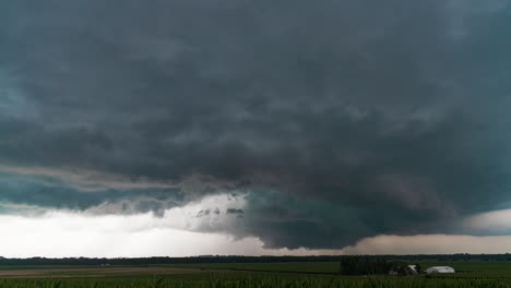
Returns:
[[[176,212],[167,215],[176,215]],[[265,249],[261,240],[171,227],[167,216],[91,216],[48,212],[43,217],[0,216],[4,257],[146,257],[193,255],[336,255],[506,253],[511,236],[377,236],[338,250]]]

